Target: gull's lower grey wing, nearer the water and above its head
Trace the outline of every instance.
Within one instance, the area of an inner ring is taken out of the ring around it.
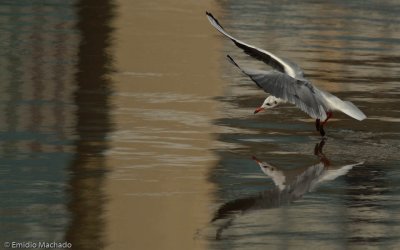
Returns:
[[[320,90],[311,83],[294,79],[278,71],[243,69],[232,57],[228,55],[228,58],[265,92],[296,105],[312,118],[326,119],[326,107],[317,99]]]

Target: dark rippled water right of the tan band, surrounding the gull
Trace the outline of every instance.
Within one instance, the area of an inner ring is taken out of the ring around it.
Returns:
[[[320,136],[312,120],[293,106],[253,115],[265,94],[222,60],[231,85],[218,98],[226,117],[215,123],[226,128],[219,140],[229,147],[215,149],[220,160],[210,173],[221,203],[212,247],[399,248],[400,5],[223,1],[220,6],[220,22],[231,34],[298,63],[315,85],[354,102],[368,119],[335,113],[322,154],[315,154]],[[221,58],[229,53],[239,64],[264,67],[229,40],[224,44]],[[274,178],[264,177],[252,155],[275,167]],[[355,163],[360,165],[343,169]],[[282,176],[286,186],[279,187]]]

